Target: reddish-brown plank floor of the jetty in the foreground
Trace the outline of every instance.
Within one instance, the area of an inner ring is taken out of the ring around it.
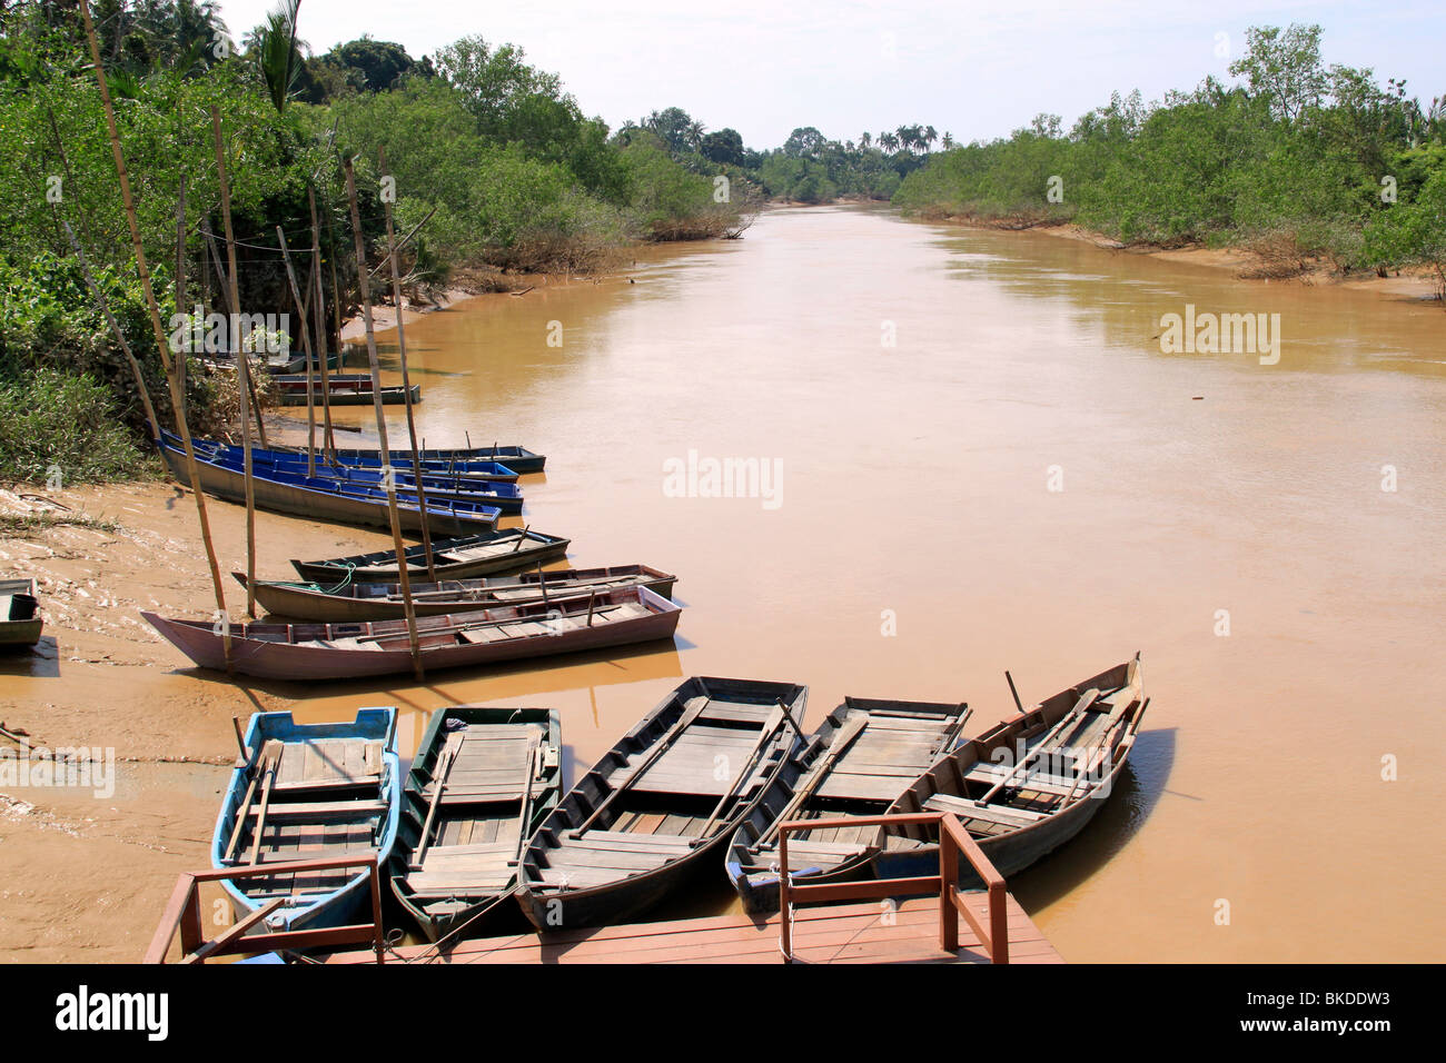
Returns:
[[[980,894],[980,901],[983,895]],[[1009,962],[1063,963],[1014,897]],[[938,947],[938,898],[904,901],[891,923],[876,902],[798,908],[794,957],[801,963],[988,963],[979,939],[960,920],[959,950]],[[779,963],[778,915],[743,913],[669,923],[558,930],[458,943],[447,957],[431,946],[405,946],[388,962],[421,963]],[[375,963],[370,950],[335,953],[328,963]]]

